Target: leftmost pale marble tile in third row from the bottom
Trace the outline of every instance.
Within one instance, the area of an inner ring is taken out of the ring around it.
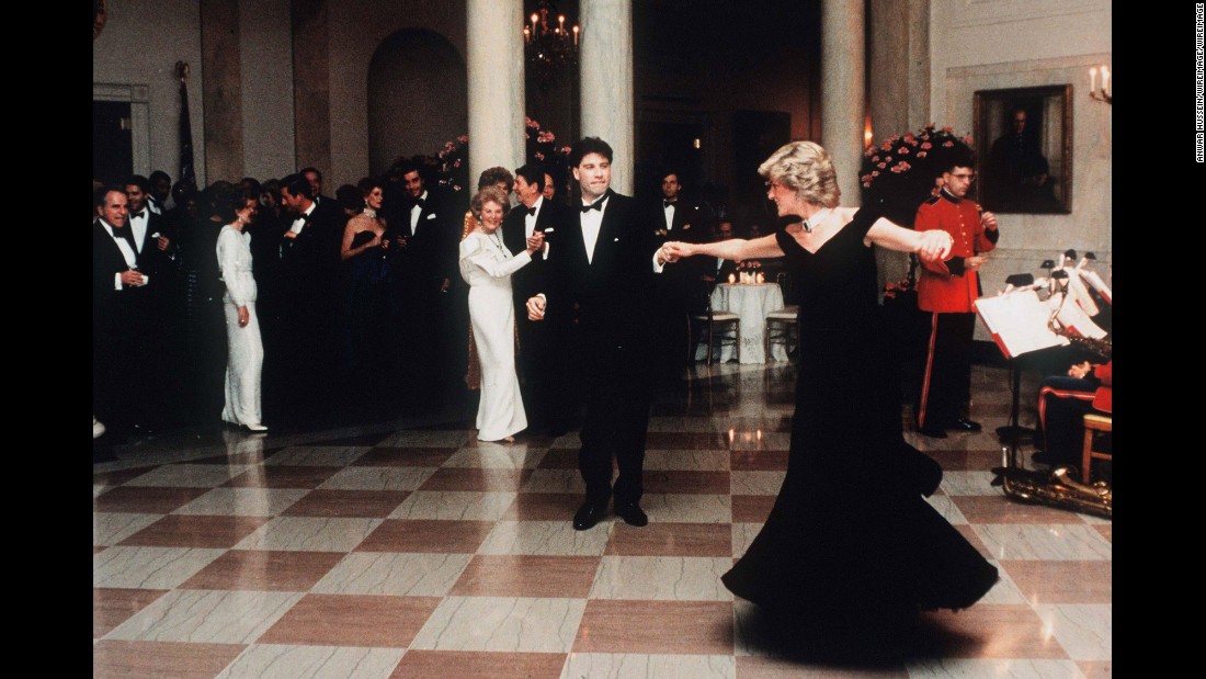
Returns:
[[[92,586],[170,590],[192,578],[224,551],[197,548],[109,548],[92,557]]]

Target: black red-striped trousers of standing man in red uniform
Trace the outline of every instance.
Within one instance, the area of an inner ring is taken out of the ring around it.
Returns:
[[[933,312],[930,316],[930,343],[917,422],[918,427],[926,423],[943,427],[959,417],[971,398],[976,314]]]

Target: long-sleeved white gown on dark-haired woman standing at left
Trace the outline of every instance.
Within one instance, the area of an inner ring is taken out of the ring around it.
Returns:
[[[227,321],[226,406],[222,420],[232,425],[260,423],[260,370],[264,345],[256,317],[256,279],[251,275],[251,234],[232,226],[218,233],[218,268],[226,282],[222,310]],[[247,308],[247,326],[239,327],[239,308]]]

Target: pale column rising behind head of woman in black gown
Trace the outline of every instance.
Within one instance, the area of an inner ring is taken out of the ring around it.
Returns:
[[[821,4],[821,144],[833,158],[842,205],[859,205],[862,163],[863,0]]]

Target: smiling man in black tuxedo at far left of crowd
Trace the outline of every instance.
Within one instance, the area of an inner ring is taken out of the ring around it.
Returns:
[[[163,347],[156,341],[156,291],[162,281],[141,270],[125,191],[101,187],[93,204],[99,217],[92,226],[93,410],[112,431],[147,434],[159,418],[156,352]]]

